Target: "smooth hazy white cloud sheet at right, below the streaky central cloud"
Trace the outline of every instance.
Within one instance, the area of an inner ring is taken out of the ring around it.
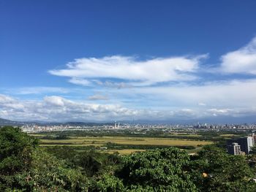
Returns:
[[[163,85],[108,90],[110,96],[129,98],[134,106],[168,108],[247,108],[256,107],[256,80],[206,82],[203,85]],[[143,103],[143,104],[141,104]],[[207,105],[206,105],[207,104]],[[198,111],[198,110],[197,110]]]

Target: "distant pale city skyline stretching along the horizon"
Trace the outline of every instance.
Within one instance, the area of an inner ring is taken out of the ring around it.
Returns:
[[[197,123],[197,124],[151,124],[151,123],[26,123],[21,126],[23,131],[34,132],[34,131],[61,131],[61,130],[77,130],[77,129],[91,129],[91,128],[101,128],[101,129],[129,129],[129,128],[138,128],[138,129],[162,129],[162,130],[173,130],[173,129],[184,129],[184,130],[200,130],[200,131],[246,131],[246,130],[256,130],[256,124],[207,124],[207,123]]]

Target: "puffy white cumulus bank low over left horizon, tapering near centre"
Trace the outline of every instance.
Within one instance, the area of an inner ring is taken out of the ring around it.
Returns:
[[[22,107],[22,110],[20,108]],[[39,101],[18,100],[0,95],[1,118],[13,120],[113,120],[138,114],[115,104],[86,104],[83,101],[71,101],[61,96],[45,96]]]

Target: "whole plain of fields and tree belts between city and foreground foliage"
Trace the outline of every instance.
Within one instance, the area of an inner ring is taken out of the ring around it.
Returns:
[[[129,154],[156,148],[178,147],[188,153],[197,153],[203,145],[219,143],[225,147],[225,140],[241,137],[244,132],[191,131],[161,129],[89,129],[76,131],[50,131],[31,134],[39,139],[41,147],[72,147],[77,151],[97,150],[99,152]]]

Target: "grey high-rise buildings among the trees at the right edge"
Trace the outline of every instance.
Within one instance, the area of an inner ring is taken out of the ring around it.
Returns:
[[[230,139],[227,141],[227,153],[232,155],[249,154],[254,145],[256,145],[256,134],[252,134],[249,137]]]

